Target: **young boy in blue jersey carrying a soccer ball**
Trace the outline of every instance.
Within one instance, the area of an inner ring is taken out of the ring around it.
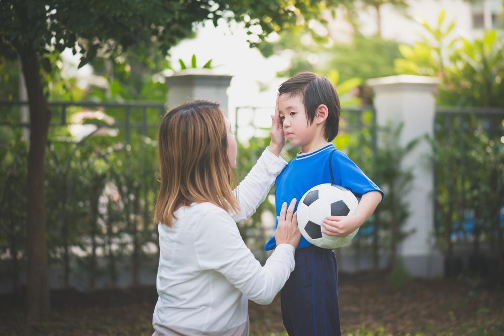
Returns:
[[[331,152],[335,183],[361,198],[352,216],[329,216],[322,232],[345,237],[359,228],[382,201],[384,193],[331,141],[338,134],[340,102],[325,78],[300,73],[280,85],[278,110],[285,137],[301,151],[275,182],[277,216],[282,204],[300,200],[310,188],[331,183]],[[297,204],[296,204],[297,209]],[[275,248],[275,238],[265,249]],[[295,253],[296,266],[281,291],[282,318],[289,335],[340,335],[338,271],[331,249],[311,245],[304,238]]]

